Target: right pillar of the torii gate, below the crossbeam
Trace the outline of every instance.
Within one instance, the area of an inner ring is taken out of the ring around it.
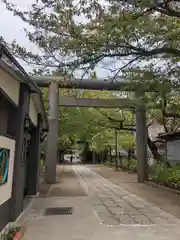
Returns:
[[[138,182],[143,183],[148,179],[146,110],[143,105],[136,107],[136,155]]]

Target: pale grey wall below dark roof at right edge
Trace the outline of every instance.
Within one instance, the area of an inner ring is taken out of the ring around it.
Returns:
[[[167,142],[167,160],[180,162],[180,139]]]

